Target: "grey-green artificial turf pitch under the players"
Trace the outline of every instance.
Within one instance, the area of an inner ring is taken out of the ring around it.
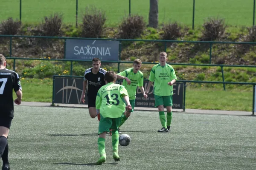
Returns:
[[[94,165],[98,120],[88,109],[15,106],[9,133],[13,170],[253,170],[255,117],[173,113],[170,133],[157,133],[157,112],[136,111],[121,127],[131,136],[113,163],[111,136],[107,161]],[[1,164],[0,164],[1,165]]]

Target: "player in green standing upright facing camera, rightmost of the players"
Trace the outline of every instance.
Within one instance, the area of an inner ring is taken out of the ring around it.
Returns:
[[[154,65],[151,69],[149,75],[148,87],[146,89],[146,94],[148,94],[149,88],[154,82],[154,98],[155,107],[158,108],[160,122],[162,124],[162,129],[158,132],[169,132],[170,125],[172,122],[172,94],[173,94],[173,84],[176,82],[176,74],[171,65],[166,64],[167,54],[166,52],[161,52],[159,55],[159,64]],[[167,110],[167,124],[164,114],[164,107]]]

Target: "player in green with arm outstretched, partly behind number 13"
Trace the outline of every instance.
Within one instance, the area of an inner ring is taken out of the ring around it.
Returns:
[[[133,68],[129,68],[116,75],[117,79],[124,79],[122,85],[125,86],[126,90],[128,91],[128,95],[129,95],[129,99],[132,107],[131,111],[126,111],[125,114],[122,116],[120,126],[122,126],[122,124],[131,115],[131,112],[133,112],[134,110],[135,98],[136,98],[136,92],[137,92],[138,86],[140,88],[140,91],[143,93],[143,96],[145,98],[148,97],[148,95],[145,94],[145,91],[143,88],[143,73],[140,71],[141,64],[142,62],[140,59],[134,59]]]

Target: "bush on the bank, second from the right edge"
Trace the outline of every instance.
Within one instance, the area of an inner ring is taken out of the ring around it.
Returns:
[[[202,38],[203,41],[214,41],[220,38],[226,29],[224,19],[208,18],[203,24]]]

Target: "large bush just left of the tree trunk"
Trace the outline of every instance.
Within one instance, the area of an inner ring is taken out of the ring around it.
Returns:
[[[140,37],[145,30],[145,20],[142,16],[134,15],[123,18],[119,25],[118,37],[122,39],[134,39]]]

